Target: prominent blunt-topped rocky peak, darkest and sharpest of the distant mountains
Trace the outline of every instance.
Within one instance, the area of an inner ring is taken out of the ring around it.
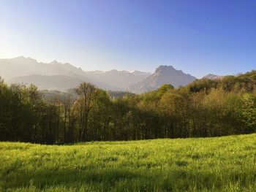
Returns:
[[[185,74],[181,70],[176,70],[173,66],[159,66],[154,74],[149,75],[141,82],[131,85],[129,91],[134,93],[152,91],[159,88],[162,84],[171,84],[177,88],[181,85],[187,85],[194,80],[196,80],[196,77]]]

